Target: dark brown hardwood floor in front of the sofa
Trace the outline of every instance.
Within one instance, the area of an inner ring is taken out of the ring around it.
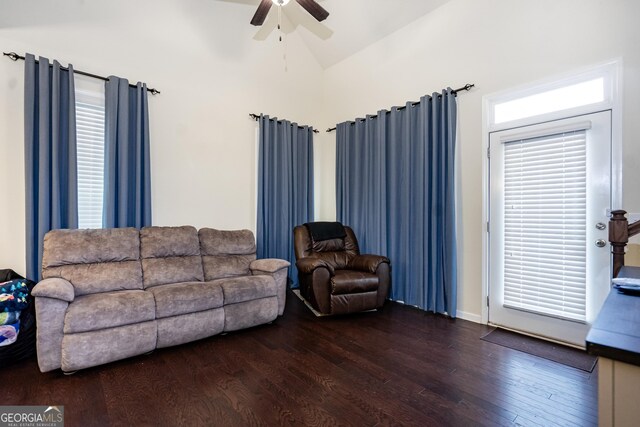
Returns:
[[[316,318],[288,297],[272,325],[72,376],[35,360],[2,367],[0,404],[64,405],[67,426],[597,425],[597,367],[399,304]]]

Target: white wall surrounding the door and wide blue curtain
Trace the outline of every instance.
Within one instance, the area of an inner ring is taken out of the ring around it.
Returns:
[[[482,312],[482,97],[610,59],[624,62],[623,207],[640,209],[640,2],[453,0],[326,70],[323,127],[475,83],[458,97],[458,315]],[[323,219],[335,217],[335,134],[319,138]]]

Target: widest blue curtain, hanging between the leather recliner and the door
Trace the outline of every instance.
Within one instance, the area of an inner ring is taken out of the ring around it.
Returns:
[[[391,259],[391,299],[456,316],[451,89],[336,129],[337,219]]]

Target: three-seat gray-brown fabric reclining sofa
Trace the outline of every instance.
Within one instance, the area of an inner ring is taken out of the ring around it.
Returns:
[[[53,230],[33,289],[38,365],[76,371],[272,322],[287,267],[253,233],[194,227]]]

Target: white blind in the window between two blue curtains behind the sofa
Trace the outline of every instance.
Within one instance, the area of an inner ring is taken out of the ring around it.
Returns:
[[[76,90],[78,227],[102,228],[104,93]]]

